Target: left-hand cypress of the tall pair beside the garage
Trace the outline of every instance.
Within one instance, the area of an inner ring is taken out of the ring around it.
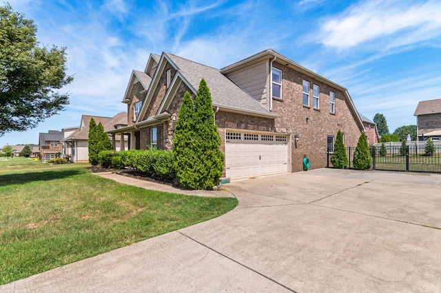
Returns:
[[[185,92],[178,112],[173,138],[173,164],[176,180],[184,188],[192,188],[194,178],[194,103],[188,91]]]

